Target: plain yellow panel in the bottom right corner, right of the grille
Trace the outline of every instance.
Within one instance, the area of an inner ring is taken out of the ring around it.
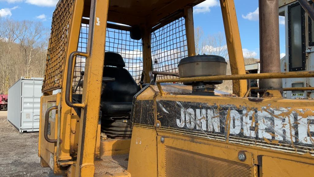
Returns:
[[[263,177],[314,176],[314,165],[263,156]]]

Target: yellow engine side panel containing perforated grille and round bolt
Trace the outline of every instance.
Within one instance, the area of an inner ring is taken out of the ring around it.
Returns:
[[[201,138],[164,132],[158,132],[157,144],[159,177],[213,174],[220,177],[254,177],[256,174],[251,152],[213,146]],[[240,152],[246,156],[243,162],[238,159]]]

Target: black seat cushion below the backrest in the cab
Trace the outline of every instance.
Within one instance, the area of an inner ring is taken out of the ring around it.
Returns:
[[[132,102],[101,102],[104,116],[130,116]]]

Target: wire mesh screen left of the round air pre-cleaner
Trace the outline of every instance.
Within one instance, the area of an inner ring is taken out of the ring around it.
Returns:
[[[185,19],[181,17],[151,33],[154,71],[179,73],[179,61],[188,56]],[[174,76],[157,76],[158,79]]]

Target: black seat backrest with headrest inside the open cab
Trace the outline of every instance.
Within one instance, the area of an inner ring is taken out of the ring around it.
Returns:
[[[132,102],[133,96],[138,93],[139,87],[133,77],[125,68],[125,63],[120,54],[105,53],[103,77],[116,78],[109,82],[101,96],[102,101]]]

